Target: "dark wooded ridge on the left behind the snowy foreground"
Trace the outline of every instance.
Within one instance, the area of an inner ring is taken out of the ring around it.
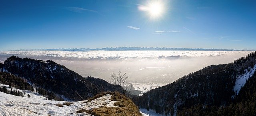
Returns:
[[[35,87],[78,101],[100,92],[116,91],[119,86],[102,79],[82,77],[70,69],[54,63],[29,58],[9,57],[0,65],[0,71],[26,79]]]

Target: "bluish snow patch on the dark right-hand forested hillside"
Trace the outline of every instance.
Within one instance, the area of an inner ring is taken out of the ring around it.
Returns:
[[[239,93],[241,87],[243,87],[246,83],[246,80],[249,79],[249,77],[252,77],[252,75],[254,75],[254,72],[256,70],[256,65],[254,65],[254,67],[249,67],[248,69],[244,70],[244,74],[240,75],[239,77],[236,77],[236,83],[234,86],[234,92],[236,92],[236,94]]]

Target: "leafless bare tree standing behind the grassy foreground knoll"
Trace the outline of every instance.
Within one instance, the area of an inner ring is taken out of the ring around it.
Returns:
[[[132,86],[129,86],[129,83],[127,82],[128,75],[126,75],[126,73],[122,74],[119,70],[117,74],[114,72],[110,73],[110,76],[110,83],[120,85],[122,87],[120,88],[120,92],[124,94],[124,96],[129,96]]]

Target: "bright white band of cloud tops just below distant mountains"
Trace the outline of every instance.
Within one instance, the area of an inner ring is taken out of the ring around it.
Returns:
[[[134,59],[174,59],[189,57],[212,57],[247,51],[0,51],[0,55],[46,58],[60,60],[134,60]]]

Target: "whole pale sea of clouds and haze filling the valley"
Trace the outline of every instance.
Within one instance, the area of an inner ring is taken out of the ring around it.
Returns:
[[[131,82],[171,83],[208,65],[231,63],[251,51],[0,51],[0,63],[11,55],[52,60],[82,76],[108,81],[109,73],[126,72]]]

